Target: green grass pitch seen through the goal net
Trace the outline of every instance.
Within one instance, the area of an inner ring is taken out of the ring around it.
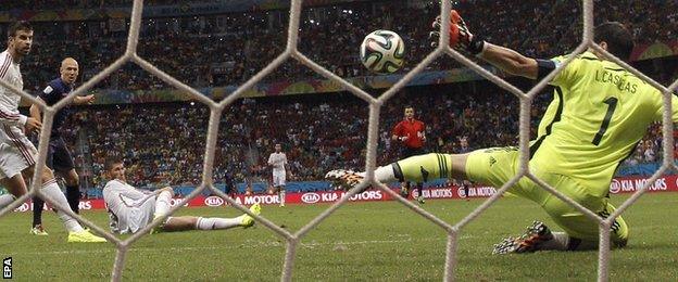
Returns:
[[[615,196],[619,204],[626,196]],[[428,201],[424,208],[454,223],[481,203]],[[298,230],[328,205],[264,206],[263,215]],[[236,216],[234,208],[184,208],[180,215]],[[104,211],[84,211],[102,227]],[[678,194],[646,194],[624,214],[630,242],[611,255],[611,279],[675,281],[678,278]],[[542,252],[491,255],[505,235],[517,235],[547,215],[531,202],[506,197],[461,232],[456,279],[460,281],[533,280],[592,281],[598,252]],[[49,236],[28,234],[30,214],[0,218],[0,256],[13,257],[18,281],[110,280],[112,244],[67,244],[52,213],[45,214]],[[312,230],[297,252],[297,281],[428,281],[443,275],[445,234],[442,229],[397,202],[350,203]],[[128,253],[123,280],[278,281],[285,241],[261,225],[251,229],[191,231],[147,235]]]

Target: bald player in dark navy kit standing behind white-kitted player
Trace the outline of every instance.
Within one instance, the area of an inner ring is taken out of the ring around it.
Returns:
[[[59,68],[60,77],[50,81],[49,85],[38,94],[38,99],[45,101],[48,105],[53,105],[61,101],[64,97],[68,95],[73,91],[75,80],[79,74],[79,67],[77,61],[73,57],[66,57],[61,62]],[[95,101],[95,95],[76,97],[73,100],[74,104],[91,104]],[[64,178],[66,182],[66,200],[71,209],[76,214],[79,213],[78,205],[80,203],[80,189],[79,177],[75,171],[73,164],[73,157],[66,146],[66,142],[61,136],[61,128],[68,118],[71,110],[68,106],[62,108],[54,115],[54,123],[52,125],[52,132],[50,132],[50,141],[47,152],[46,165],[54,170],[58,175]],[[30,106],[30,117],[37,120],[42,120],[40,115],[40,107],[37,105]],[[47,235],[47,231],[42,227],[42,206],[45,201],[40,197],[33,197],[33,228],[30,233],[35,235]]]

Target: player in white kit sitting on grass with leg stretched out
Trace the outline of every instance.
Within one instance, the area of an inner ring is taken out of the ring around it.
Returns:
[[[125,165],[117,156],[110,156],[104,164],[106,177],[110,179],[103,188],[103,201],[106,204],[111,231],[115,233],[136,233],[154,218],[161,217],[171,208],[170,201],[174,196],[171,187],[156,191],[145,191],[127,184]],[[261,205],[250,207],[252,214],[261,214]],[[217,230],[234,227],[251,227],[254,218],[241,215],[236,218],[205,218],[193,216],[167,217],[153,231],[184,230]]]

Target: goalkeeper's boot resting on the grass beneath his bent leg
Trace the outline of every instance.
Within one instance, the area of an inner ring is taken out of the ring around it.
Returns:
[[[553,234],[549,227],[543,222],[535,220],[527,228],[525,234],[519,238],[506,238],[501,243],[494,244],[493,255],[503,255],[511,253],[533,253],[539,251],[539,246],[547,241],[553,240]]]

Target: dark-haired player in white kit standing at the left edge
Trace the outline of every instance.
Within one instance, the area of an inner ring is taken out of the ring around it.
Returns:
[[[30,52],[33,27],[27,22],[16,22],[8,29],[8,49],[0,53],[0,79],[16,89],[24,88],[20,63]],[[24,134],[41,128],[39,120],[18,113],[21,97],[0,87],[0,183],[10,194],[0,196],[0,208],[10,205],[16,197],[27,193],[24,179],[32,179],[35,171],[37,150]],[[42,193],[65,208],[66,197],[59,189],[52,171],[45,167],[41,174]],[[105,242],[96,236],[62,210],[56,215],[68,231],[68,242]]]

